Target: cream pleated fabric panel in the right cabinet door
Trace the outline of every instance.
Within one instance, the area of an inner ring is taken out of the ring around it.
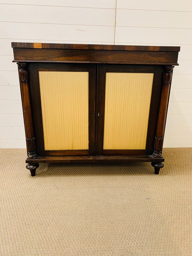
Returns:
[[[103,149],[145,149],[153,73],[106,73]]]

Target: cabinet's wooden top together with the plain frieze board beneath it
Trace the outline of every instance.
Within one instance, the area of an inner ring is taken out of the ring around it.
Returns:
[[[178,65],[178,46],[11,43],[14,62]]]

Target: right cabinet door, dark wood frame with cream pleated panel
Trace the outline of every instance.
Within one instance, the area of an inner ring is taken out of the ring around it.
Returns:
[[[153,153],[163,69],[99,65],[97,153]]]

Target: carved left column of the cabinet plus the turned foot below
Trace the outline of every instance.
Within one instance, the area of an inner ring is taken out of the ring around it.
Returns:
[[[33,129],[33,118],[31,110],[31,101],[29,93],[29,74],[27,70],[26,63],[18,63],[19,69],[19,81],[20,90],[23,105],[23,117],[25,122],[25,135],[26,135],[26,146],[27,146],[27,158],[35,159],[37,158],[36,148],[35,148],[35,136]],[[35,175],[35,170],[38,164],[27,164],[26,168],[31,171],[31,176]]]

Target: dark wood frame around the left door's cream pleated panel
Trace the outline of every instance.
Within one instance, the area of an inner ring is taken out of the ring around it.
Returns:
[[[41,112],[41,96],[39,88],[38,71],[82,71],[89,72],[89,150],[44,150],[44,133]],[[95,155],[95,101],[96,101],[96,65],[95,64],[52,64],[30,63],[31,101],[33,102],[33,123],[36,147],[39,156],[64,156],[64,155]],[[39,111],[40,110],[40,111]]]

